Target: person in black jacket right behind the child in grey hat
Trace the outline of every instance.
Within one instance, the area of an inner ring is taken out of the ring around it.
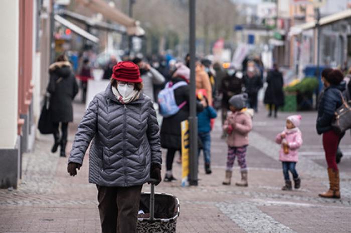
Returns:
[[[241,73],[242,74],[242,73]],[[227,69],[227,75],[222,79],[220,93],[222,94],[222,126],[227,118],[227,112],[229,111],[229,99],[236,94],[240,94],[243,89],[243,78],[242,75],[237,75],[234,67]],[[226,137],[227,133],[223,130],[222,138]]]

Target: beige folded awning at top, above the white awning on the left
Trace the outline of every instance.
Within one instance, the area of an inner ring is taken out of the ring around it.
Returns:
[[[145,34],[144,29],[140,27],[140,22],[130,18],[120,10],[111,7],[104,0],[77,0],[79,3],[83,4],[85,7],[90,8],[95,12],[100,12],[104,17],[117,22],[127,28],[127,33],[129,35],[141,36]]]

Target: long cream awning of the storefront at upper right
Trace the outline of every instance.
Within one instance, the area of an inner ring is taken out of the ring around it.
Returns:
[[[341,20],[344,18],[348,18],[348,17],[351,17],[351,9],[346,9],[344,11],[322,17],[319,20],[319,24],[326,25],[326,24],[329,24],[329,23],[332,23],[332,22],[335,22],[335,21],[338,21],[338,20]],[[312,21],[312,22],[303,23],[301,25],[292,26],[292,27],[290,27],[289,36],[300,34],[304,30],[314,28],[315,25],[316,25],[316,22]]]

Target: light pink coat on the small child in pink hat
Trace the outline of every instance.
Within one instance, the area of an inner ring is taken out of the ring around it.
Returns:
[[[281,138],[281,134],[285,132],[285,138]],[[283,141],[286,141],[289,145],[289,153],[285,154],[283,150]],[[286,162],[297,162],[298,161],[298,152],[297,149],[300,148],[302,145],[302,133],[298,127],[287,129],[285,128],[284,131],[278,133],[275,137],[275,142],[281,144],[279,150],[279,160],[286,161]]]

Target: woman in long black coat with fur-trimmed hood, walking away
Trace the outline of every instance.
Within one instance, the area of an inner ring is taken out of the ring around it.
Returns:
[[[47,91],[50,93],[51,119],[54,124],[54,145],[51,152],[56,152],[61,145],[60,156],[66,156],[68,122],[73,121],[72,100],[78,93],[78,84],[67,57],[60,55],[49,67],[50,81]],[[59,123],[62,136],[60,138]]]

